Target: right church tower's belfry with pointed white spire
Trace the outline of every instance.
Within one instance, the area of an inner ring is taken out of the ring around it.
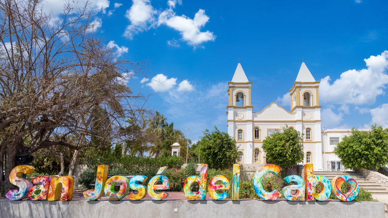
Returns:
[[[296,80],[289,91],[291,112],[298,108],[321,108],[319,106],[319,83],[319,81],[315,81],[306,64],[302,62]]]

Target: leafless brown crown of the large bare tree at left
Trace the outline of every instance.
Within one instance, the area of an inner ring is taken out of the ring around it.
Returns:
[[[46,15],[38,0],[0,1],[0,172],[7,178],[16,154],[62,145],[78,152],[112,141],[140,95],[121,83],[141,63],[116,61],[87,31],[87,6],[69,6],[60,18]],[[126,73],[126,74],[123,74]],[[53,135],[59,137],[53,137]],[[66,137],[74,135],[77,143]],[[0,186],[9,188],[8,180]]]

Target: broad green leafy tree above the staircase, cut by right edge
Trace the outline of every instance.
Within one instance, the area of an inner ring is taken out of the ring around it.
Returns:
[[[388,164],[388,128],[372,125],[371,131],[352,129],[334,148],[345,168],[379,169]]]

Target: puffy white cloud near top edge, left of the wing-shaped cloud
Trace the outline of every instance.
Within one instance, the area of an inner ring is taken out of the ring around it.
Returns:
[[[132,6],[125,13],[131,24],[125,28],[123,36],[133,39],[135,34],[150,29],[155,23],[156,13],[150,0],[133,0]]]

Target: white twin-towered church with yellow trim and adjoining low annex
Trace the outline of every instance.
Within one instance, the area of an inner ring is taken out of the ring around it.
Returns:
[[[288,125],[303,133],[303,163],[314,164],[316,170],[343,170],[334,147],[351,129],[324,129],[321,126],[319,83],[302,63],[290,93],[290,111],[273,102],[254,112],[251,105],[252,82],[249,82],[238,63],[232,82],[229,82],[227,108],[228,134],[239,145],[238,163],[267,163],[263,140]]]

